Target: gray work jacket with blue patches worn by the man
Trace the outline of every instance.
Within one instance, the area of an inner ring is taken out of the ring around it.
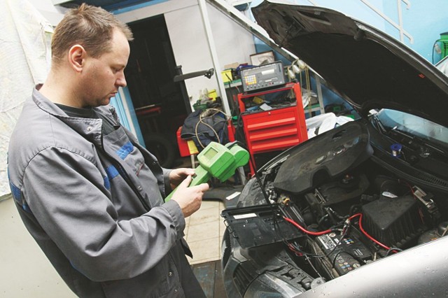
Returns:
[[[110,106],[94,110],[119,125]],[[8,151],[20,216],[80,297],[183,297],[169,171],[123,127],[103,137],[101,119],[69,117],[36,89]]]

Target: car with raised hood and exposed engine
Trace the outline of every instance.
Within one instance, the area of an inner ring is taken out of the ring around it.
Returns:
[[[281,152],[222,211],[228,297],[447,297],[447,76],[335,10],[253,15],[358,117]]]

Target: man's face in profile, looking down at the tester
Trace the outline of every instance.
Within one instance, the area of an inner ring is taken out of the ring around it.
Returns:
[[[83,107],[106,106],[115,97],[118,87],[125,87],[125,66],[130,55],[130,46],[125,35],[115,30],[111,50],[100,57],[87,57],[83,68],[80,101]]]

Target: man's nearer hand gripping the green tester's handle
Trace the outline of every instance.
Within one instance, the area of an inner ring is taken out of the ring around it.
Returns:
[[[176,201],[181,207],[185,218],[188,218],[188,216],[192,215],[200,208],[204,192],[209,190],[209,185],[207,183],[188,187],[191,180],[191,176],[188,176],[185,180],[183,180],[182,183],[176,188],[176,192],[174,192],[172,197],[172,200]]]

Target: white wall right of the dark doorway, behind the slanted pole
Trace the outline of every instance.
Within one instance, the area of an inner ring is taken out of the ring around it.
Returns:
[[[216,66],[215,75],[221,76],[221,70],[226,64],[248,62],[249,55],[255,52],[255,46],[252,34],[242,29],[213,6],[207,4],[206,7],[218,54],[219,65]],[[119,13],[117,17],[123,22],[134,22],[160,14],[165,15],[174,59],[177,65],[182,66],[183,73],[213,68],[211,51],[197,0],[170,0]],[[215,89],[219,94],[216,76],[211,79],[191,78],[185,83],[192,106],[199,99],[201,89]]]

